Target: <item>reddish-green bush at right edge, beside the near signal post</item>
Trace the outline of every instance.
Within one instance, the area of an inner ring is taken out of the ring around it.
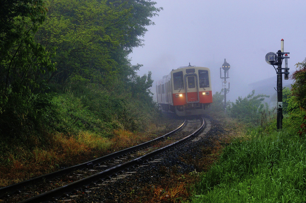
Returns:
[[[303,62],[298,62],[296,65],[297,71],[292,74],[292,79],[295,80],[292,85],[292,94],[297,104],[306,109],[306,58]]]

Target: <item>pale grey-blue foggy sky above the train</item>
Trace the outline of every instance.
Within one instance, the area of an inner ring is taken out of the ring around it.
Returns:
[[[211,69],[213,93],[221,91],[220,70],[224,59],[230,64],[230,92],[235,101],[246,96],[248,84],[276,73],[265,62],[268,52],[290,52],[289,72],[306,57],[306,1],[218,1],[155,0],[163,7],[147,27],[144,46],[130,54],[132,64],[143,64],[140,76],[152,72],[153,80],[172,69],[191,65]],[[283,62],[283,66],[285,63]],[[287,80],[283,80],[284,83]],[[155,92],[155,82],[153,86]]]

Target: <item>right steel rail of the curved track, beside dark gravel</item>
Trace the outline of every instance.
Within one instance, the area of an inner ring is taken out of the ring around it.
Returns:
[[[199,134],[203,129],[205,128],[205,122],[204,119],[202,118],[202,125],[200,126],[199,129],[197,129],[195,132],[192,134],[188,135],[187,137],[176,141],[172,144],[169,144],[163,148],[160,148],[158,150],[152,151],[146,155],[143,155],[141,157],[135,158],[131,161],[125,162],[123,164],[120,164],[118,166],[114,166],[113,168],[107,169],[105,171],[102,171],[100,173],[96,173],[94,175],[88,176],[86,178],[83,178],[81,180],[74,181],[72,183],[69,183],[67,185],[64,185],[62,187],[58,187],[54,190],[47,191],[45,193],[36,195],[32,198],[26,199],[21,201],[20,203],[37,203],[37,202],[47,202],[47,201],[52,201],[55,200],[56,198],[62,197],[63,195],[69,194],[79,188],[86,187],[90,184],[103,181],[104,179],[109,178],[110,176],[114,175],[115,173],[122,171],[123,169],[127,169],[131,166],[134,165],[139,165],[140,163],[144,162],[145,160],[151,158],[152,156],[155,156],[157,154],[160,154],[166,150],[169,150],[170,148],[173,148],[177,146],[178,144],[182,144],[192,137],[195,137],[197,134]]]

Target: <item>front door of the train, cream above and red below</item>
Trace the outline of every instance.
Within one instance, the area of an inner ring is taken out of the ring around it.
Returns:
[[[187,103],[199,102],[198,80],[196,75],[185,75]]]

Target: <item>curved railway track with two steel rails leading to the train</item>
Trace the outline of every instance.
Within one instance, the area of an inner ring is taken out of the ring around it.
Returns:
[[[199,126],[199,124],[196,124],[196,125]],[[115,152],[110,155],[106,155],[101,158],[97,158],[95,160],[92,160],[92,161],[89,161],[89,162],[86,162],[80,165],[72,166],[66,169],[62,169],[60,171],[56,171],[54,173],[50,173],[44,176],[39,176],[31,180],[23,181],[21,183],[17,183],[11,186],[0,188],[0,194],[12,194],[13,192],[17,191],[17,193],[24,194],[23,199],[28,198],[29,196],[33,196],[33,195],[27,194],[26,192],[20,192],[21,189],[24,189],[25,187],[29,187],[30,185],[33,185],[32,187],[35,187],[35,184],[37,184],[37,182],[43,181],[43,184],[44,184],[48,182],[47,180],[52,180],[55,177],[62,176],[63,174],[67,174],[66,177],[60,178],[60,179],[67,179],[65,182],[62,182],[59,184],[59,185],[64,184],[63,186],[21,201],[21,202],[47,202],[47,201],[54,200],[55,198],[61,197],[63,195],[69,194],[73,191],[76,191],[79,188],[84,188],[90,184],[93,184],[96,182],[103,182],[104,180],[110,179],[111,176],[116,175],[122,170],[125,170],[129,167],[138,166],[145,160],[150,159],[153,156],[159,153],[162,153],[166,150],[169,150],[170,148],[173,148],[177,146],[178,144],[184,143],[192,137],[195,137],[197,134],[199,134],[204,129],[205,123],[204,123],[204,119],[201,118],[200,128],[197,127],[197,130],[195,130],[192,134],[186,137],[185,136],[182,137],[184,133],[181,133],[181,135],[178,135],[177,132],[182,130],[184,126],[186,126],[186,120],[176,130],[168,134],[165,134],[159,138],[156,138],[154,140],[148,141],[143,144],[139,144],[131,148],[127,148],[125,150]],[[188,128],[189,128],[189,131],[190,129],[195,128],[194,123],[188,122],[184,131],[188,131]],[[170,136],[171,138],[169,138]],[[165,139],[166,137],[168,137],[168,139]],[[175,141],[175,140],[178,140],[178,141]],[[169,142],[171,141],[172,143],[169,144]],[[155,146],[154,145],[152,146],[152,144],[155,144]],[[158,149],[155,150],[155,148],[158,148]],[[83,173],[83,174],[80,174],[80,173]],[[74,175],[71,175],[71,174],[74,174]],[[78,177],[76,178],[76,176]],[[52,181],[49,181],[49,182],[52,182]],[[16,200],[17,201],[22,200],[22,197],[19,197],[18,199],[15,199],[14,201],[9,200],[9,199],[10,198],[4,198],[3,200],[14,202]]]

